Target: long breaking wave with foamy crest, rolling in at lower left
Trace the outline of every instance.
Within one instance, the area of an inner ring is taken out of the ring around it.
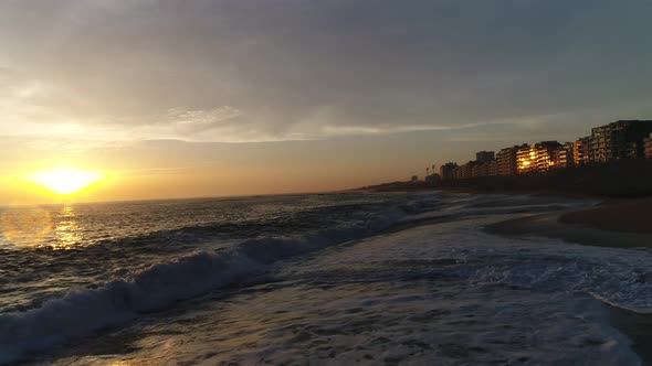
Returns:
[[[364,223],[318,230],[298,239],[252,239],[219,251],[196,252],[96,289],[69,292],[38,309],[2,314],[0,364],[208,293],[277,260],[371,236],[406,216],[404,211],[393,208]]]

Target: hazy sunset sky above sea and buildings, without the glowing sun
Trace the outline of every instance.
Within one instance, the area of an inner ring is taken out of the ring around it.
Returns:
[[[329,191],[652,118],[648,0],[0,2],[0,204]]]

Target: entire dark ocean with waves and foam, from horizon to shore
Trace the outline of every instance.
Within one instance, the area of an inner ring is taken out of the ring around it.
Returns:
[[[0,364],[638,365],[609,309],[652,311],[651,252],[483,230],[593,204],[351,192],[4,207]]]

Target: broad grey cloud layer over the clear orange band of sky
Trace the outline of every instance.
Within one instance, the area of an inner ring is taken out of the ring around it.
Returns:
[[[652,96],[652,51],[642,46],[651,10],[645,1],[6,2],[0,134],[283,141],[620,111]],[[560,131],[596,121],[570,123]]]

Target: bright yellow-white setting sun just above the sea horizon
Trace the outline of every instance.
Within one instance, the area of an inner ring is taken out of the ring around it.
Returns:
[[[25,179],[54,193],[69,195],[104,180],[104,175],[75,168],[57,168],[30,174]]]

